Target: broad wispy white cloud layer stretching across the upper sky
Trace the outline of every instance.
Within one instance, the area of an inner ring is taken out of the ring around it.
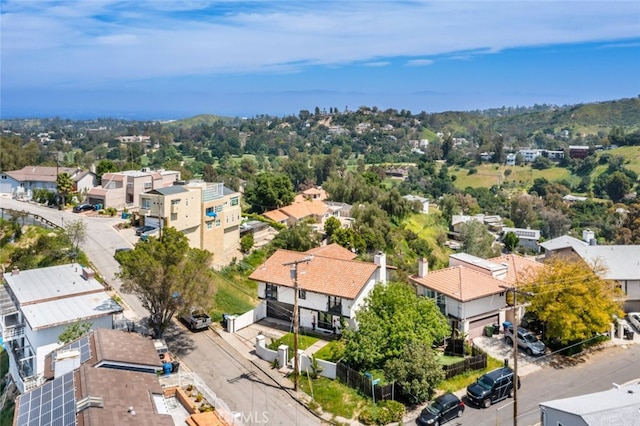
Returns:
[[[640,37],[639,9],[626,1],[5,1],[3,84],[295,72],[613,43]]]

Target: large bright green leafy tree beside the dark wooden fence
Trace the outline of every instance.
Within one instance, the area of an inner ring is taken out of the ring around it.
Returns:
[[[384,368],[405,346],[424,342],[428,349],[450,334],[447,319],[433,299],[419,297],[407,283],[378,283],[356,313],[358,330],[345,330],[345,360],[359,369]]]

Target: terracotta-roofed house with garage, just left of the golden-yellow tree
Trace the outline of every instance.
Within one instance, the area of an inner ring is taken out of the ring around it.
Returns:
[[[469,339],[482,335],[484,326],[513,321],[507,314],[506,289],[525,282],[542,263],[515,254],[482,259],[466,253],[449,256],[449,267],[428,271],[420,261],[418,275],[409,277],[419,295],[436,300],[452,329]],[[522,312],[518,313],[522,318]]]

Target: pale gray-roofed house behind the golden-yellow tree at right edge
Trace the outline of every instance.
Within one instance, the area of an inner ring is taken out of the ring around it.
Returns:
[[[626,300],[625,312],[640,311],[640,245],[596,245],[593,231],[584,230],[582,240],[563,235],[540,244],[545,258],[578,257],[589,266],[603,268],[600,277],[618,283]]]

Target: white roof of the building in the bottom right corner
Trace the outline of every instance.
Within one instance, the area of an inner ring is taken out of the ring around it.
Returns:
[[[640,384],[542,402],[540,406],[582,417],[588,425],[637,425]]]

